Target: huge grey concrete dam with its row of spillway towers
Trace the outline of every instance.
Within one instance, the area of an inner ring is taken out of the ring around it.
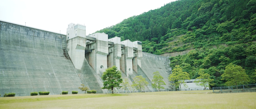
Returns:
[[[164,88],[172,90],[169,63],[167,57],[142,52],[140,41],[108,39],[104,33],[86,36],[86,26],[80,24],[69,24],[64,35],[0,21],[1,95],[14,92],[16,96],[30,96],[35,91],[49,91],[50,95],[62,91],[81,94],[81,84],[97,93],[106,93],[108,90],[101,89],[101,76],[114,65],[130,84],[135,76],[146,78],[147,91],[157,90],[152,88],[151,81],[153,72],[158,71],[164,77]]]

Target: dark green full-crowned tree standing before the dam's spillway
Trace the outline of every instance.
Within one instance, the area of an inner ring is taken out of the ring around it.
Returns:
[[[120,88],[120,83],[122,83],[121,72],[117,69],[116,66],[110,67],[103,72],[102,75],[103,86],[102,89],[111,89],[112,94],[114,94],[114,87]]]

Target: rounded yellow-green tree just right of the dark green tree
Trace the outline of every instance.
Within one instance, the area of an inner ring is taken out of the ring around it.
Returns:
[[[145,89],[144,86],[148,85],[148,82],[146,81],[146,79],[142,76],[136,76],[133,78],[133,82],[132,82],[132,87],[137,89],[137,90],[141,90]]]

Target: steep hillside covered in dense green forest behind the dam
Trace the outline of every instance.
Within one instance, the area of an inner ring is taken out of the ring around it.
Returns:
[[[104,28],[109,38],[142,41],[144,52],[164,54],[190,74],[210,74],[212,87],[225,86],[221,75],[230,63],[241,66],[256,83],[256,0],[180,0]]]

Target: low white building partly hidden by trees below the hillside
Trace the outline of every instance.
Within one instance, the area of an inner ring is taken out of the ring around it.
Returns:
[[[198,81],[199,79],[191,79],[191,80],[179,80],[184,81],[180,86],[179,90],[204,90],[204,86],[198,86],[196,85],[195,81]],[[207,86],[209,83],[207,83]],[[186,86],[186,87],[185,87]],[[206,90],[209,89],[209,87],[206,87]]]

